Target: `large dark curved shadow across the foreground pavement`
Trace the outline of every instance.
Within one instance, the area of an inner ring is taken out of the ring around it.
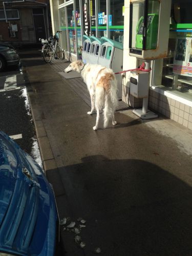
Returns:
[[[191,255],[192,190],[166,170],[142,160],[89,156],[58,175],[68,201],[56,195],[60,218],[87,220],[83,250],[73,232],[62,231],[68,256],[94,255],[97,246],[105,256]],[[53,187],[58,191],[58,183]]]

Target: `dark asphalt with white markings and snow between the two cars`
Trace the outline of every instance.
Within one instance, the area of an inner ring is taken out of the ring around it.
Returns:
[[[42,167],[35,127],[26,89],[26,75],[22,67],[8,67],[0,73],[0,130]]]

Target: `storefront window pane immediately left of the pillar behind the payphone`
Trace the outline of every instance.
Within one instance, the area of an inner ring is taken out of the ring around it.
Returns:
[[[109,38],[123,43],[124,0],[110,1]]]

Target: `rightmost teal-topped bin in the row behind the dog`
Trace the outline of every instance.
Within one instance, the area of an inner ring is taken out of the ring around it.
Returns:
[[[101,37],[101,47],[98,64],[110,68],[114,73],[122,71],[123,68],[123,45],[120,42]],[[118,98],[122,98],[122,76],[116,74],[118,87]]]

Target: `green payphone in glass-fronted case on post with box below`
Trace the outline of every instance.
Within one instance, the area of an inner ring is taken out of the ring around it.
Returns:
[[[130,1],[130,55],[145,62],[167,56],[169,20],[172,0],[132,0]],[[130,74],[130,94],[143,99],[142,109],[134,114],[142,119],[158,116],[147,109],[150,73],[132,71]]]

